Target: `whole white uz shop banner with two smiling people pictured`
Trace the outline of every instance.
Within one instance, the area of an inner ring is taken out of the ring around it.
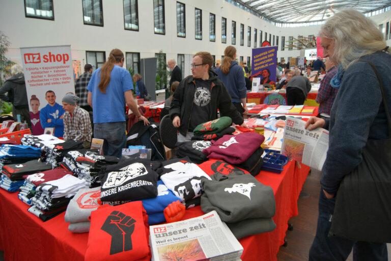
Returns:
[[[41,135],[44,128],[54,128],[54,136],[63,137],[65,111],[61,100],[75,90],[71,46],[22,47],[20,53],[32,134]]]

